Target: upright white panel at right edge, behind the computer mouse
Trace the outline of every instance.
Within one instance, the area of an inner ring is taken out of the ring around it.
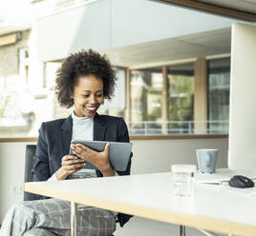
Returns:
[[[256,25],[234,24],[231,41],[230,168],[256,167]]]

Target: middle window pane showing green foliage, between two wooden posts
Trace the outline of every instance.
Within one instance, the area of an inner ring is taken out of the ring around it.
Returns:
[[[168,68],[168,133],[193,133],[194,64]]]

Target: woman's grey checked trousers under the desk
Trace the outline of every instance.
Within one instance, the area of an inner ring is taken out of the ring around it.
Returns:
[[[112,211],[92,206],[77,209],[77,236],[109,236],[116,230]],[[5,216],[1,236],[71,235],[70,203],[59,199],[21,202]]]

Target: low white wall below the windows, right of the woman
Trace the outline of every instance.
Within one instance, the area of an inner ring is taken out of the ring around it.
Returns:
[[[227,167],[227,140],[222,138],[132,141],[132,174],[170,171],[172,164],[197,164],[197,148],[219,149],[217,167]]]

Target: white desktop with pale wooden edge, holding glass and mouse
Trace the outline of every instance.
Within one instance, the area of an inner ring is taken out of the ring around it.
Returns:
[[[235,172],[231,172],[234,174]],[[256,235],[256,188],[197,184],[175,197],[170,173],[25,184],[25,190],[73,203],[234,235]]]

